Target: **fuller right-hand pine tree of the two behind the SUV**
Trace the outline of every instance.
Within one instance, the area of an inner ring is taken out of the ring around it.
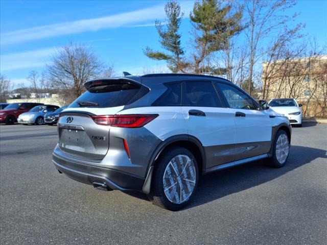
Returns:
[[[190,14],[195,29],[195,52],[193,70],[195,74],[226,74],[225,68],[216,68],[210,62],[215,52],[224,50],[229,45],[229,38],[241,32],[242,13],[230,15],[232,5],[217,0],[202,0],[195,3]]]

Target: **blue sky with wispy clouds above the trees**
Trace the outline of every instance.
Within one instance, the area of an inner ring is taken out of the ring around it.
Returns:
[[[165,17],[165,1],[1,1],[0,70],[15,84],[26,83],[30,70],[44,68],[56,49],[70,41],[83,42],[114,64],[115,71],[142,74],[166,69],[165,62],[148,59],[143,48],[160,49],[155,19]],[[180,1],[185,18],[183,44],[188,45],[193,1]],[[298,1],[287,12],[300,13],[303,31],[327,43],[327,1]]]

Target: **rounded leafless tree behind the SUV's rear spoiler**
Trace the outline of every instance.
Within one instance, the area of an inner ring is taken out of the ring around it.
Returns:
[[[111,74],[112,65],[104,68],[90,47],[69,43],[54,54],[52,62],[46,65],[46,72],[53,87],[72,101],[85,91],[85,82]]]

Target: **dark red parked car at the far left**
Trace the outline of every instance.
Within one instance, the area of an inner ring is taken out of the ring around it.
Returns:
[[[0,124],[14,124],[21,113],[31,110],[35,106],[44,105],[43,103],[12,103],[4,110],[0,110]]]

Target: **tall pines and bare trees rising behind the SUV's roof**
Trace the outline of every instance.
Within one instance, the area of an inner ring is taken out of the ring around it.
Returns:
[[[262,97],[263,92],[266,99],[262,81],[269,76],[262,61],[272,65],[326,54],[325,47],[302,36],[305,24],[296,22],[297,13],[287,14],[295,4],[292,0],[196,1],[189,13],[192,31],[183,34],[189,39],[185,46],[180,31],[185,13],[177,1],[171,1],[165,5],[165,21],[155,22],[163,51],[147,46],[144,54],[166,61],[172,72],[225,76],[253,96]]]

